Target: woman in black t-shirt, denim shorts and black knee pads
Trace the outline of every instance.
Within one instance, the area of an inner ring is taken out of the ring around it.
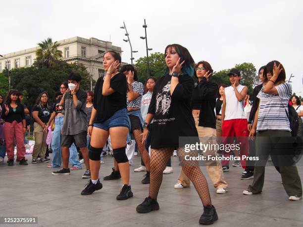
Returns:
[[[125,200],[133,196],[129,184],[129,162],[125,153],[126,136],[130,123],[127,116],[126,92],[127,81],[118,68],[121,56],[115,51],[107,51],[103,57],[106,75],[98,79],[94,92],[94,108],[90,119],[88,134],[91,136],[89,149],[92,178],[81,192],[90,195],[102,188],[99,180],[100,155],[102,147],[110,135],[114,158],[120,173],[113,170],[112,175],[122,177],[123,187],[117,200]]]

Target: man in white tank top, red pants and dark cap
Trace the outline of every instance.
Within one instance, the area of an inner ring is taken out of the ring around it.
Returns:
[[[237,69],[231,69],[228,73],[231,86],[225,88],[222,105],[222,137],[225,146],[234,143],[234,136],[237,137],[237,144],[240,146],[240,163],[246,170],[246,158],[248,156],[249,143],[247,130],[247,118],[244,112],[244,98],[248,88],[240,85],[241,74]],[[223,172],[229,170],[230,153],[223,152],[222,169]]]

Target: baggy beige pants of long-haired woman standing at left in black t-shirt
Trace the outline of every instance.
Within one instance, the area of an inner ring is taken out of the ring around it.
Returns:
[[[33,150],[33,158],[37,159],[38,155],[40,158],[45,158],[45,153],[47,149],[46,137],[47,132],[43,132],[43,128],[37,122],[34,123],[34,133],[35,133],[35,145]]]

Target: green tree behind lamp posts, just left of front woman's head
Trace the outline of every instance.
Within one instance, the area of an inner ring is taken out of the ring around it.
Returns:
[[[138,58],[134,66],[138,71],[138,79],[142,83],[144,83],[149,76],[159,78],[164,75],[166,69],[164,54],[156,52],[149,56],[150,75],[147,75],[147,57]]]

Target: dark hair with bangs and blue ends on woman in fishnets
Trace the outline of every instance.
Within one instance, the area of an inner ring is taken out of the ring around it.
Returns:
[[[192,77],[194,75],[195,61],[194,61],[192,55],[190,54],[190,52],[188,51],[188,49],[179,44],[167,45],[165,47],[165,51],[164,51],[165,57],[166,57],[166,50],[171,47],[174,47],[176,49],[176,52],[180,56],[180,63],[185,60],[184,64],[182,65],[182,69],[181,69],[182,73],[187,74]],[[165,73],[168,73],[168,72],[169,72],[169,69],[167,67]]]

